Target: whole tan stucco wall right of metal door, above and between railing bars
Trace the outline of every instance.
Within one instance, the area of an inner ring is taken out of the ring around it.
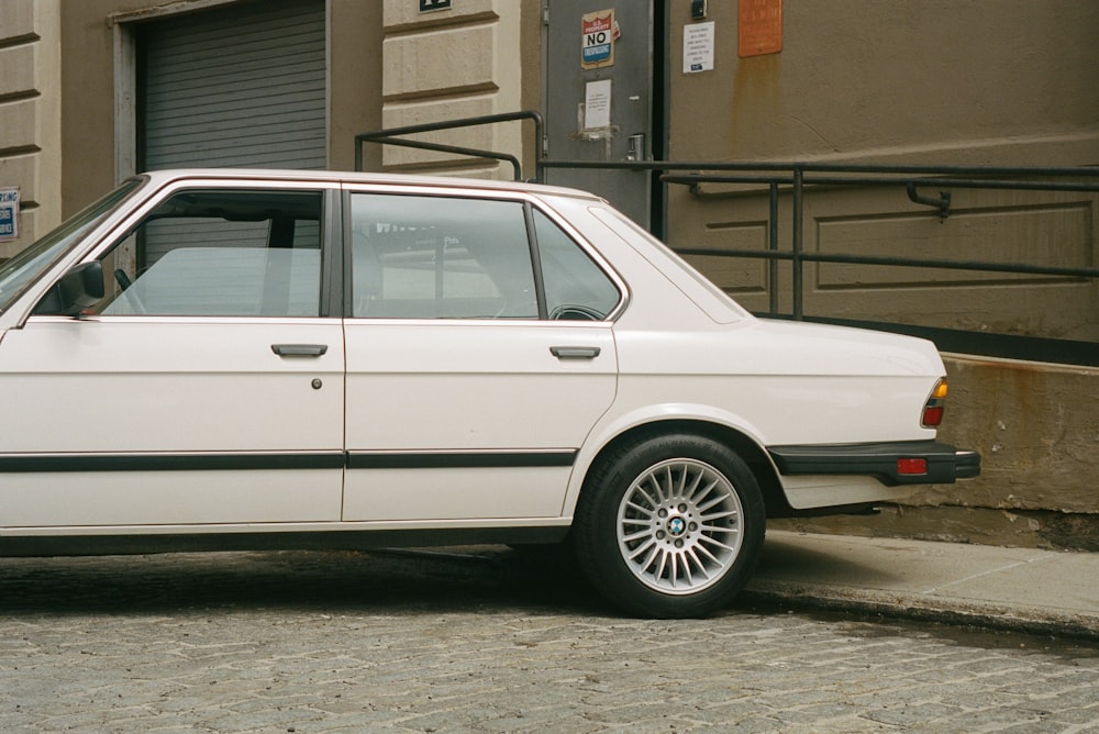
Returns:
[[[709,3],[714,69],[682,74],[687,3],[671,7],[670,157],[922,165],[1099,163],[1099,4],[784,3],[777,54],[740,58],[737,3]],[[1091,182],[1099,181],[1092,177]],[[937,196],[939,188],[922,191]],[[955,189],[951,215],[903,187],[807,190],[804,251],[1090,267],[1099,198]],[[669,190],[673,246],[767,243],[762,193],[713,184]],[[780,247],[792,214],[784,196]],[[762,260],[696,258],[753,310]],[[780,268],[789,312],[789,269]],[[1099,338],[1099,285],[1065,277],[851,265],[810,266],[806,313],[977,332]]]

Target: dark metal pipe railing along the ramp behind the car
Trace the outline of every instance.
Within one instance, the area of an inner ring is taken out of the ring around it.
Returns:
[[[439,132],[501,122],[533,122],[535,175],[537,182],[546,180],[551,169],[602,169],[650,171],[659,176],[666,185],[687,186],[699,192],[703,184],[752,185],[765,190],[768,197],[767,246],[764,249],[675,247],[677,253],[691,256],[735,257],[765,259],[768,262],[768,312],[761,315],[789,318],[796,320],[854,323],[888,329],[902,333],[914,333],[935,341],[944,351],[973,352],[1045,362],[1062,362],[1099,366],[1099,344],[1068,340],[1010,336],[967,332],[950,329],[913,326],[910,324],[854,322],[840,319],[810,316],[806,314],[806,266],[811,263],[833,263],[847,265],[937,268],[944,270],[966,270],[979,273],[1002,273],[1011,275],[1061,276],[1095,280],[1099,278],[1099,267],[1035,265],[1033,263],[988,260],[988,259],[943,259],[933,257],[903,257],[893,255],[862,255],[844,253],[807,252],[804,247],[804,199],[807,188],[819,187],[901,187],[909,200],[918,205],[934,210],[940,219],[952,214],[951,190],[984,189],[1014,191],[1061,191],[1099,193],[1099,167],[1002,167],[1002,166],[897,166],[897,165],[853,165],[829,163],[717,163],[717,162],[590,162],[552,160],[543,155],[545,125],[542,115],[533,110],[522,112],[466,118],[444,123],[412,125],[364,133],[355,137],[356,169],[362,169],[362,146],[364,143],[399,145],[442,153],[473,156],[510,163],[515,180],[522,180],[522,166],[515,156],[492,151],[441,145],[423,141],[407,140],[404,136],[419,133]],[[937,196],[923,192],[935,190]],[[781,197],[791,200],[790,234],[788,247],[779,241],[779,201]],[[791,309],[781,312],[779,292],[779,264],[789,263],[791,270]],[[1099,314],[1097,314],[1099,318]],[[952,348],[964,345],[964,348]]]

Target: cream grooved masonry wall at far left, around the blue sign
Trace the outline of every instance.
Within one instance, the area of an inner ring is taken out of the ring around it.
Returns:
[[[10,257],[60,222],[58,0],[0,3],[0,188],[18,187],[19,237]]]

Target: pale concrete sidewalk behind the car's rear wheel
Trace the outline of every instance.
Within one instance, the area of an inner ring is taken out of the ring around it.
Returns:
[[[771,531],[742,599],[1099,641],[1099,554]]]

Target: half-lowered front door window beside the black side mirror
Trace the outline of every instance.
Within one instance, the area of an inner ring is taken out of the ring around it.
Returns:
[[[101,258],[91,312],[320,315],[321,211],[318,191],[178,192]]]

